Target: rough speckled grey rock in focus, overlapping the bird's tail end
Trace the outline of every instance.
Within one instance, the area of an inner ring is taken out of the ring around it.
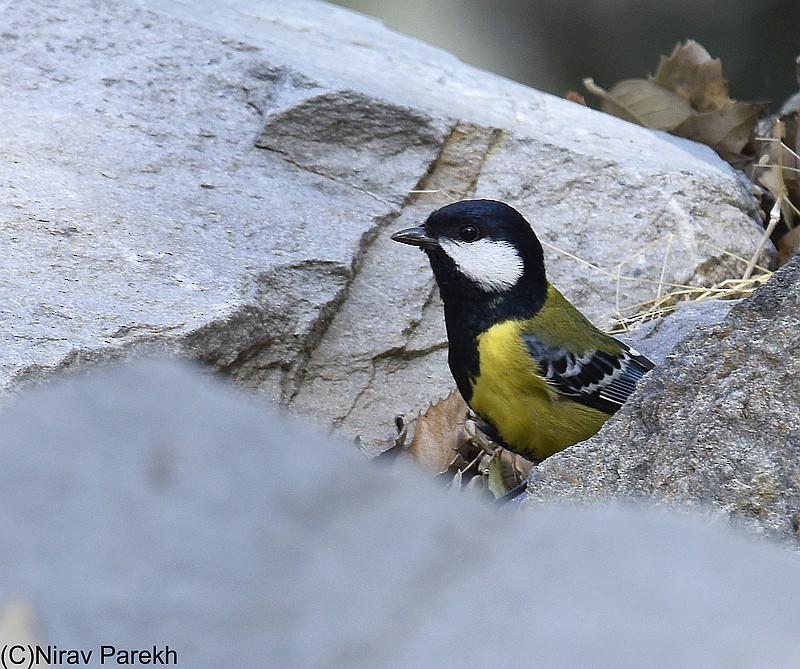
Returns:
[[[529,499],[703,505],[800,540],[800,257],[684,339],[592,439],[534,468]]]

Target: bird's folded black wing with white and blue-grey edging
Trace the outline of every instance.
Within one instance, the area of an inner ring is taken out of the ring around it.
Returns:
[[[653,368],[635,348],[610,337],[618,353],[592,349],[576,354],[530,333],[522,334],[522,339],[542,376],[558,393],[608,414],[622,406],[639,379]]]

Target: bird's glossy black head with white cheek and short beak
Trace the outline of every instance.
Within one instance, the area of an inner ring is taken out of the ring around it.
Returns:
[[[542,246],[522,215],[504,202],[454,202],[392,239],[428,254],[446,311],[473,305],[473,311],[490,309],[496,321],[532,316],[544,303]]]

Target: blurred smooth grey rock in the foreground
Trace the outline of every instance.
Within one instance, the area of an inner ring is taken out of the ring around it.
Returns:
[[[16,612],[91,666],[101,644],[193,669],[800,666],[796,554],[447,494],[174,363],[28,392],[0,435],[2,643]]]

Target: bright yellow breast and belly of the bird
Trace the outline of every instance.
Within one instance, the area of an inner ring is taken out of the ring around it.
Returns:
[[[505,321],[478,336],[480,373],[470,406],[514,450],[543,460],[588,439],[608,418],[560,395],[539,375],[521,337],[520,321]]]

